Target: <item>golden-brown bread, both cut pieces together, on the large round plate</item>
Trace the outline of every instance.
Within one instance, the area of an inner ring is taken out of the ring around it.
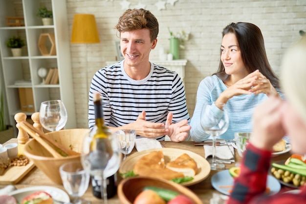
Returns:
[[[150,176],[166,180],[194,176],[197,173],[197,163],[187,154],[179,156],[168,164],[165,164],[162,151],[153,151],[141,157],[135,163],[133,171],[139,176]]]

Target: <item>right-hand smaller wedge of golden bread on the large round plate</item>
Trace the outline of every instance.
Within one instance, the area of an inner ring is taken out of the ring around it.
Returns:
[[[174,161],[167,163],[166,167],[173,171],[183,173],[185,177],[194,177],[197,174],[197,163],[186,153]]]

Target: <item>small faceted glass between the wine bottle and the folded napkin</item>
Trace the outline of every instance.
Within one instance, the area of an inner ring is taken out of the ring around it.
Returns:
[[[123,160],[125,160],[134,148],[136,131],[129,129],[117,130],[114,134],[118,139],[120,151],[124,154]]]

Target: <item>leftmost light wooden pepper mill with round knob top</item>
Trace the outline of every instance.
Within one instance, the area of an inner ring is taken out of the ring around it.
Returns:
[[[29,135],[27,134],[25,130],[23,130],[20,127],[20,124],[19,124],[20,122],[26,120],[25,113],[17,113],[14,116],[14,119],[17,122],[16,127],[18,128],[17,140],[18,140],[18,156],[19,156],[23,154],[23,147],[24,147],[24,144],[29,141]]]

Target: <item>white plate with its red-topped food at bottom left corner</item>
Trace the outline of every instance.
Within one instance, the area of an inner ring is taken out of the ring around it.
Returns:
[[[65,203],[70,202],[69,196],[64,190],[44,185],[20,188],[18,190],[14,190],[8,193],[8,195],[13,196],[18,203],[21,203],[23,199],[30,201],[38,197],[43,197],[48,200],[52,200],[51,202],[54,201],[60,201]],[[51,196],[51,198],[48,198],[48,196]]]

